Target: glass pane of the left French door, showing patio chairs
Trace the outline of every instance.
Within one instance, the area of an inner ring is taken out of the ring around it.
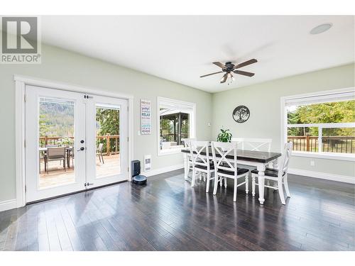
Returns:
[[[75,181],[75,102],[39,99],[39,189]]]

